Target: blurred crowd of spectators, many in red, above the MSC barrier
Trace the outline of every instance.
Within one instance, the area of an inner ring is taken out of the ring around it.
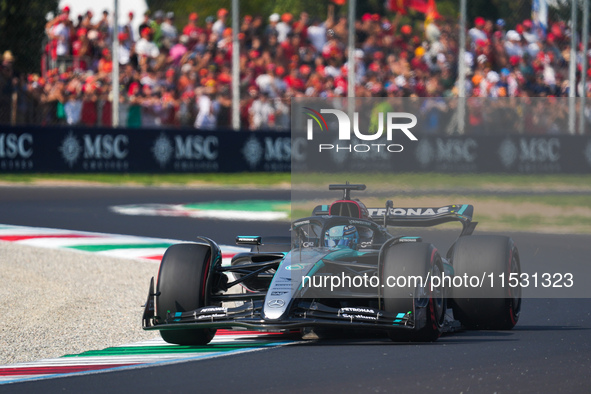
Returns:
[[[138,17],[143,20],[134,29]],[[65,7],[47,22],[43,73],[19,74],[10,51],[3,53],[0,108],[12,103],[17,124],[111,125],[111,48],[117,34],[120,125],[230,128],[228,11],[205,17],[193,12],[180,21],[162,10],[129,12],[128,18],[113,29],[107,11],[74,17]],[[245,15],[238,34],[242,127],[288,129],[292,97],[346,96],[348,28],[330,6],[326,18],[306,12]],[[466,96],[568,96],[565,23],[538,32],[530,20],[507,26],[502,19],[478,17],[467,36]],[[411,26],[399,17],[364,14],[356,21],[355,39],[357,97],[457,96],[455,20]],[[580,68],[588,57],[578,49]],[[579,85],[582,94],[589,95],[588,86]],[[0,123],[10,122],[7,116]]]

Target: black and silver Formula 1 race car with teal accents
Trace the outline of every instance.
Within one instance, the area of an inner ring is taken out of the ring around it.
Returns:
[[[521,274],[509,237],[472,235],[471,205],[367,208],[365,185],[330,185],[343,198],[291,225],[292,236],[238,236],[251,248],[229,265],[211,239],[173,245],[150,283],[143,328],[180,345],[204,345],[216,329],[376,330],[394,341],[434,341],[442,332],[511,329]],[[462,225],[445,256],[396,227]],[[501,283],[499,278],[504,278]],[[452,312],[453,311],[453,312]]]

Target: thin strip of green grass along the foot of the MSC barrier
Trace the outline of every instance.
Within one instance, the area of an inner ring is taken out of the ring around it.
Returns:
[[[508,175],[508,174],[321,174],[306,173],[235,173],[235,174],[0,174],[0,182],[35,183],[38,181],[90,182],[113,185],[186,186],[203,183],[216,186],[256,185],[273,187],[291,183],[328,187],[329,183],[365,183],[368,190],[487,189],[591,190],[591,174],[584,175]]]

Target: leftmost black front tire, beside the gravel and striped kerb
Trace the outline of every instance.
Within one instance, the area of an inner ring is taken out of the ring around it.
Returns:
[[[166,250],[158,271],[156,315],[163,324],[167,316],[192,311],[206,305],[206,276],[210,247],[202,244],[177,244]],[[160,336],[177,345],[206,345],[215,329],[161,330]]]

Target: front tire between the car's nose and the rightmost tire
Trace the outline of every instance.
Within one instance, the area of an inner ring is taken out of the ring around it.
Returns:
[[[432,342],[441,335],[443,321],[445,319],[446,298],[444,289],[436,287],[431,291],[427,288],[409,289],[408,287],[390,287],[385,280],[392,277],[420,276],[426,279],[440,276],[443,272],[441,257],[431,244],[407,243],[398,244],[388,248],[383,259],[382,283],[384,310],[398,314],[401,312],[416,312],[416,304],[424,304],[427,312],[427,321],[424,327],[418,330],[389,331],[388,336],[396,342]],[[413,294],[413,297],[409,295]]]

